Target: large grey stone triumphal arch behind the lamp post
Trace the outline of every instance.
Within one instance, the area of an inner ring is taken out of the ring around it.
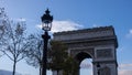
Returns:
[[[66,43],[68,54],[79,63],[92,58],[94,75],[118,75],[118,42],[113,26],[58,32],[54,33],[54,40]]]

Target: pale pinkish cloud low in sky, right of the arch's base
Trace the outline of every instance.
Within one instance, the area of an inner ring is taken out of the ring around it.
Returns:
[[[119,75],[132,75],[132,64],[120,64]]]

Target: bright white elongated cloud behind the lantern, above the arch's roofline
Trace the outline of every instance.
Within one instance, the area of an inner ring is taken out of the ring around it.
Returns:
[[[72,31],[82,29],[84,26],[73,21],[53,21],[52,32]],[[41,25],[37,25],[41,28]]]

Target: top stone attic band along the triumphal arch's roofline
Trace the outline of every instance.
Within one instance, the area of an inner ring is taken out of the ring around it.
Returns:
[[[54,40],[66,43],[110,40],[113,41],[116,47],[118,47],[117,35],[114,34],[113,26],[100,26],[100,28],[85,29],[77,31],[58,32],[58,33],[54,33]]]

